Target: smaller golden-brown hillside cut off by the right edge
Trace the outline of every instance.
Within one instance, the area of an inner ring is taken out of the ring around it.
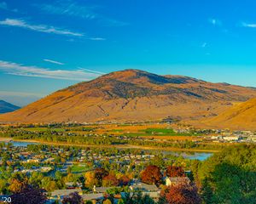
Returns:
[[[256,129],[256,98],[233,105],[224,113],[205,121],[212,127]]]

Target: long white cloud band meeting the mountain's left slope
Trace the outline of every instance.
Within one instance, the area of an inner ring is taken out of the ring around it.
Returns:
[[[0,60],[0,71],[9,75],[25,76],[25,77],[43,77],[53,79],[65,79],[73,81],[88,81],[101,76],[103,73],[90,70],[50,70],[38,66],[27,66],[17,64],[15,62]]]

